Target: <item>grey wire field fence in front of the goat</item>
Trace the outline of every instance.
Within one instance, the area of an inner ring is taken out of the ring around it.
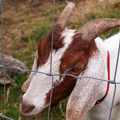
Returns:
[[[53,0],[53,13],[52,13],[52,40],[51,40],[51,51],[53,50],[53,34],[54,34],[54,8],[55,8],[55,0]],[[114,79],[113,80],[106,80],[106,79],[101,79],[101,78],[95,78],[95,77],[90,77],[90,76],[79,76],[76,77],[74,75],[71,74],[53,74],[52,73],[52,52],[51,52],[51,59],[50,59],[50,73],[44,73],[44,72],[40,72],[40,71],[34,71],[34,70],[23,70],[17,67],[8,67],[8,66],[4,66],[3,65],[3,16],[2,16],[2,0],[0,0],[0,10],[1,10],[1,65],[0,68],[3,69],[4,71],[4,113],[0,114],[0,117],[3,119],[8,119],[8,120],[13,120],[9,117],[7,117],[5,115],[5,111],[6,111],[6,107],[5,107],[5,93],[6,93],[6,74],[5,74],[5,70],[6,69],[17,69],[19,71],[22,72],[37,72],[37,73],[41,73],[41,74],[46,74],[48,76],[52,76],[52,83],[51,83],[51,96],[50,96],[50,105],[49,105],[49,109],[48,109],[48,120],[50,119],[50,109],[51,109],[51,100],[52,100],[52,90],[53,90],[53,82],[54,82],[54,76],[72,76],[75,78],[92,78],[92,79],[96,79],[96,80],[101,80],[101,81],[105,81],[108,82],[110,84],[114,84],[114,94],[113,94],[113,99],[112,99],[112,103],[111,103],[111,108],[110,108],[110,113],[109,113],[109,118],[108,120],[110,120],[111,118],[111,113],[112,113],[112,108],[113,108],[113,103],[114,103],[114,98],[115,98],[115,93],[116,93],[116,85],[120,84],[120,82],[116,82],[116,74],[117,74],[117,66],[118,66],[118,60],[119,60],[119,52],[120,52],[120,42],[119,42],[119,47],[118,47],[118,55],[117,55],[117,60],[116,60],[116,68],[115,68],[115,74],[114,74]],[[119,40],[120,41],[120,40]]]

